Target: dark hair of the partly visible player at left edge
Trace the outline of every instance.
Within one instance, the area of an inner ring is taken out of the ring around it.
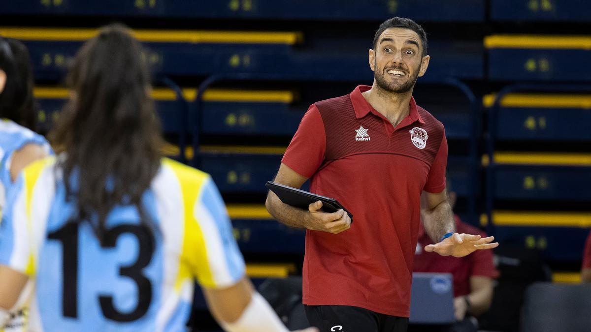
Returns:
[[[0,92],[0,118],[37,129],[33,69],[27,47],[18,40],[0,37],[0,70],[6,73],[6,84]]]

